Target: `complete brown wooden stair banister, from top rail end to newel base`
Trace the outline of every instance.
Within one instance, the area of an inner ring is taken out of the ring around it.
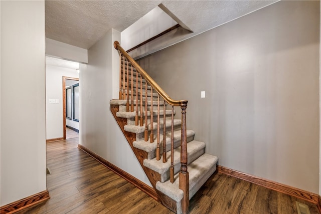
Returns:
[[[161,104],[159,98],[162,97],[164,100],[163,105],[163,162],[167,162],[166,152],[166,106],[167,104],[172,106],[171,112],[171,166],[170,166],[170,180],[174,182],[174,106],[180,106],[182,109],[182,123],[181,123],[181,170],[179,172],[179,188],[183,190],[184,197],[182,199],[182,210],[188,210],[189,207],[189,172],[187,170],[187,132],[186,132],[186,108],[187,100],[173,100],[158,84],[132,59],[127,52],[120,46],[118,41],[114,42],[114,48],[120,52],[120,72],[119,72],[119,99],[126,100],[126,111],[135,112],[135,125],[143,126],[144,129],[144,140],[150,143],[154,142],[153,129],[153,105],[157,106],[157,147],[156,147],[156,159],[161,159],[161,118],[159,117],[161,112]],[[129,64],[130,63],[130,64]],[[135,85],[133,84],[133,71],[136,72]],[[130,82],[129,82],[130,79]],[[139,81],[138,81],[139,79]],[[145,82],[145,84],[143,84]],[[150,100],[148,100],[148,86],[150,87]],[[143,89],[145,89],[145,100],[143,100]],[[153,101],[153,91],[157,93],[157,101]],[[130,95],[130,100],[129,100]],[[135,95],[135,100],[133,96]],[[139,98],[139,100],[138,100]],[[134,104],[135,101],[135,104]],[[147,103],[150,102],[150,113],[148,112]],[[145,104],[145,105],[144,105]],[[138,107],[139,105],[139,107]],[[135,106],[135,108],[134,108]],[[139,112],[140,108],[140,112]],[[142,109],[145,109],[143,112]],[[138,118],[139,112],[139,118]],[[144,114],[144,115],[143,115]],[[148,114],[150,114],[150,123],[148,127]],[[143,119],[144,118],[144,119]],[[139,120],[139,121],[138,121]],[[143,124],[145,120],[145,124]],[[148,133],[149,136],[148,136]]]

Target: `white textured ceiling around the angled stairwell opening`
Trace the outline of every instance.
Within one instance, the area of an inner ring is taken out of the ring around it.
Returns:
[[[163,4],[202,33],[277,1],[46,1],[46,37],[89,49],[109,29],[122,32]]]

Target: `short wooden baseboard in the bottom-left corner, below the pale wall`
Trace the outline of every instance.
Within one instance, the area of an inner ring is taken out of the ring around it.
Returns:
[[[9,203],[7,205],[1,206],[0,213],[1,214],[15,213],[17,211],[20,211],[20,210],[25,209],[27,207],[33,206],[33,205],[40,203],[42,201],[48,200],[49,198],[50,198],[49,191],[44,190],[42,192],[25,197],[21,200],[17,200],[15,202]]]

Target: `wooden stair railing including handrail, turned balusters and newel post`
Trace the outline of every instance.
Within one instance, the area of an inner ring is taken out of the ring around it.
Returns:
[[[135,68],[136,70],[136,102],[137,102],[137,96],[138,96],[138,73],[140,75],[140,126],[143,124],[142,120],[142,78],[145,81],[144,88],[145,88],[145,128],[144,128],[144,141],[148,141],[149,137],[149,142],[152,143],[154,142],[153,139],[153,90],[157,92],[157,149],[156,149],[156,159],[160,159],[160,151],[159,151],[159,96],[161,96],[164,100],[164,106],[163,106],[163,162],[167,162],[167,154],[166,154],[166,105],[167,103],[172,106],[172,115],[171,115],[171,166],[169,168],[170,170],[170,180],[171,182],[174,182],[174,106],[180,106],[182,109],[182,123],[181,123],[181,170],[179,172],[179,188],[183,190],[184,195],[182,198],[182,212],[187,213],[189,209],[189,172],[187,170],[187,163],[188,163],[188,156],[187,156],[187,132],[186,132],[186,108],[187,108],[187,100],[173,100],[172,98],[169,97],[169,95],[161,88],[158,86],[158,84],[136,63],[134,59],[132,59],[127,52],[119,45],[119,42],[115,41],[114,42],[114,47],[115,49],[119,50],[121,55],[123,56],[123,71],[125,71],[125,59],[127,61],[127,77],[125,76],[125,72],[123,72],[123,86],[125,85],[125,79],[127,80],[127,90],[126,90],[126,95],[127,95],[127,102],[126,102],[126,111],[129,111],[129,64],[131,67],[131,104],[133,104],[133,69],[132,67]],[[120,76],[121,78],[121,76]],[[121,81],[119,81],[121,83]],[[147,83],[149,84],[150,87],[150,129],[148,130],[148,117],[147,117],[147,102],[148,102],[148,86]],[[121,87],[120,87],[121,88]],[[120,94],[121,92],[119,92]],[[125,95],[125,88],[123,88],[123,99]],[[136,115],[138,116],[137,112],[137,104],[136,104]],[[135,125],[138,125],[137,122],[135,122]],[[150,136],[148,136],[148,132],[150,131]]]

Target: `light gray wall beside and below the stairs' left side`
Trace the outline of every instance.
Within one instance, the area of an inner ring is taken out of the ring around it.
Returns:
[[[88,65],[80,64],[79,143],[150,185],[110,111],[113,92],[119,91],[119,55],[113,47],[115,40],[120,41],[120,33],[111,29],[88,50]]]

